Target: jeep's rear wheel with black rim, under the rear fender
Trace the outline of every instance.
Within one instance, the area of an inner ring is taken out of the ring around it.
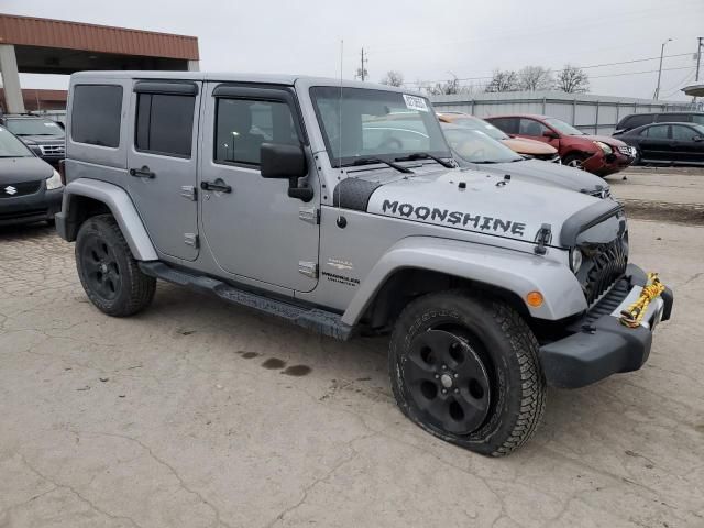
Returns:
[[[119,286],[107,296],[101,293],[95,273],[89,270],[92,263],[86,261],[89,244],[96,243],[100,248],[105,245],[110,265],[119,275]],[[91,217],[81,224],[76,238],[75,253],[80,283],[90,301],[100,311],[112,317],[128,317],[152,302],[156,278],[142,273],[118,222],[111,215]]]

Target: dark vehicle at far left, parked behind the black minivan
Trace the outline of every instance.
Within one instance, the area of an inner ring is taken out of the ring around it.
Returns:
[[[34,154],[53,166],[57,166],[66,155],[64,128],[47,118],[38,116],[2,116],[0,124],[20,138]]]

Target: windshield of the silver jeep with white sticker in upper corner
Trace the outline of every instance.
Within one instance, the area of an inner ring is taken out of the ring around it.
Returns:
[[[342,88],[340,97],[340,88],[332,86],[314,87],[310,97],[334,167],[365,157],[394,162],[420,152],[452,157],[422,97],[366,88]]]

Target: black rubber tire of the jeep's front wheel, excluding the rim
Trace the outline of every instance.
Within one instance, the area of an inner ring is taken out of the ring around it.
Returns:
[[[404,361],[411,343],[433,329],[464,334],[491,373],[493,403],[474,431],[455,435],[425,419],[404,380]],[[468,337],[469,336],[469,337]],[[465,290],[428,294],[411,301],[399,316],[389,344],[389,375],[400,410],[428,432],[481,454],[502,457],[524,444],[536,431],[546,404],[546,382],[538,342],[525,320],[506,302],[473,297]]]

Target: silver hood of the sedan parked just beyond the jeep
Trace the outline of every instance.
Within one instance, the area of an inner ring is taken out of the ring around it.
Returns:
[[[543,185],[553,185],[578,193],[597,194],[609,190],[609,186],[603,178],[586,170],[568,167],[559,163],[541,162],[540,160],[525,160],[513,163],[477,164],[465,163],[476,170],[485,170],[490,174],[504,176],[510,174],[513,178]]]

